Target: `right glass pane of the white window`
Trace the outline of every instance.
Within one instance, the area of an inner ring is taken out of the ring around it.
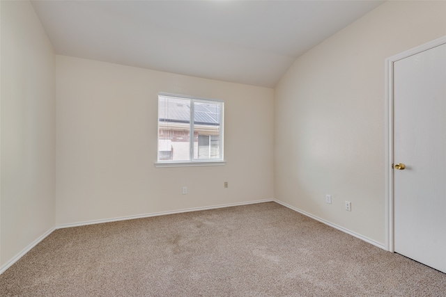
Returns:
[[[220,102],[194,102],[194,158],[220,159]]]

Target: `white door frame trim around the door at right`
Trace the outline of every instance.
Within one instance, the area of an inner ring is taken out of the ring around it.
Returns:
[[[394,252],[394,63],[446,43],[446,35],[385,59],[385,248]]]

